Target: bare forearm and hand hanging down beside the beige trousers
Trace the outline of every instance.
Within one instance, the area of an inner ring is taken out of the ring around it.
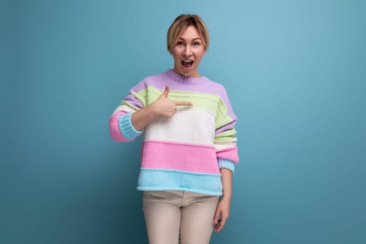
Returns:
[[[233,185],[233,172],[231,170],[221,168],[220,173],[222,181],[222,198],[219,201],[218,206],[216,207],[215,218],[213,220],[213,222],[215,223],[214,231],[216,231],[217,233],[219,233],[222,228],[224,228],[224,225],[229,218]]]

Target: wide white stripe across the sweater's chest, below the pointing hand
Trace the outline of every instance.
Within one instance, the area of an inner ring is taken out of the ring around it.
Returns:
[[[213,145],[215,116],[204,109],[178,109],[171,118],[159,118],[145,129],[144,139]]]

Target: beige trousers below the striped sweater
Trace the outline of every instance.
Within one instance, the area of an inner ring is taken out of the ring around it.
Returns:
[[[220,196],[186,191],[145,191],[143,209],[150,244],[208,244]]]

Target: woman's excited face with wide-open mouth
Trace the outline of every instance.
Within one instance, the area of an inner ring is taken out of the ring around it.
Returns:
[[[200,77],[198,66],[206,49],[194,26],[188,26],[174,43],[171,50],[174,57],[174,71],[187,77]]]

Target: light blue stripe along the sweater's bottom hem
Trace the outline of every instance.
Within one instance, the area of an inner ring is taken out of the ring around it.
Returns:
[[[220,196],[222,183],[220,174],[141,168],[137,190],[186,190]]]

